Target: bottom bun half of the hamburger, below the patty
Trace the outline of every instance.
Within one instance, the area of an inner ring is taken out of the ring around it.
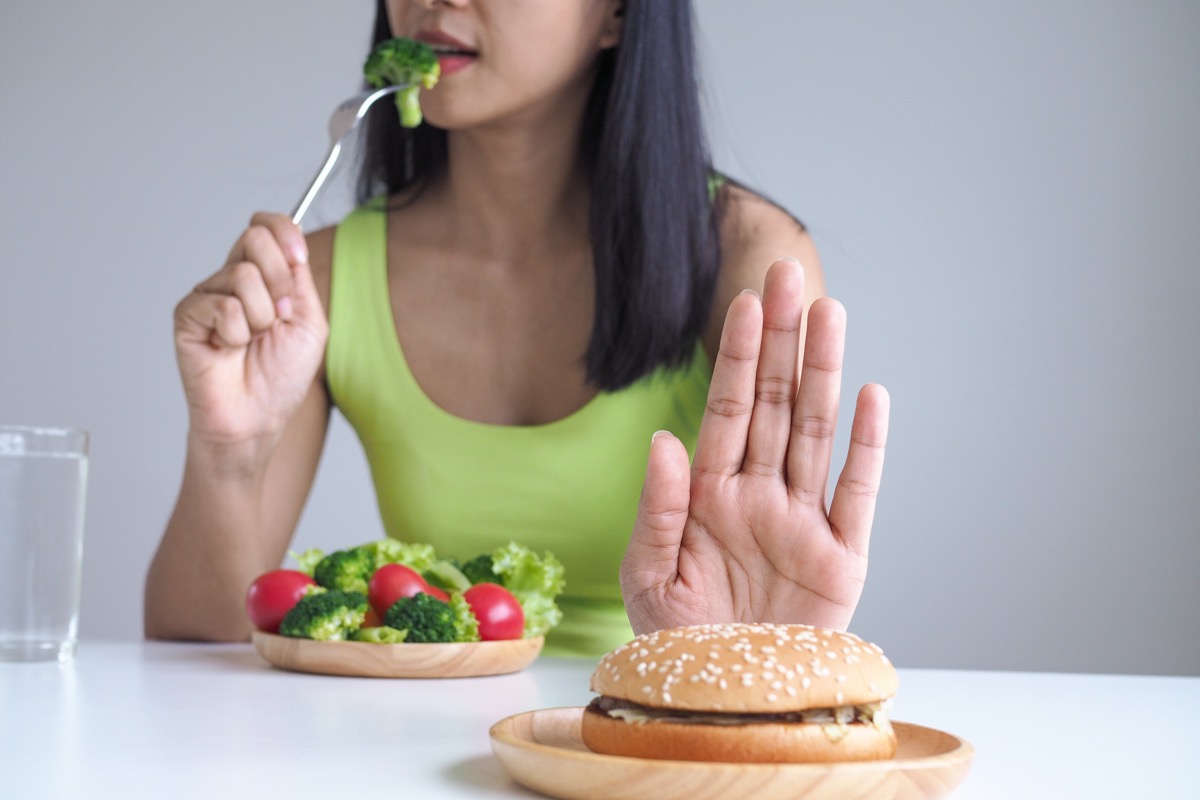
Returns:
[[[896,752],[892,727],[850,724],[836,741],[816,723],[756,722],[696,724],[624,722],[588,708],[583,712],[583,744],[596,753],[683,762],[828,763],[892,758]]]

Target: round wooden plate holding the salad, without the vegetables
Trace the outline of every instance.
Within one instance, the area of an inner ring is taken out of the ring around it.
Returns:
[[[454,644],[313,642],[254,631],[254,649],[293,672],[356,678],[478,678],[520,672],[533,663],[542,637]]]

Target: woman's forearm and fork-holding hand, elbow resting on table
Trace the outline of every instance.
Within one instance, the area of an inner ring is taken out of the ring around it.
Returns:
[[[246,589],[283,560],[329,421],[329,240],[306,243],[286,217],[258,215],[175,309],[187,456],[146,576],[148,637],[245,639]]]

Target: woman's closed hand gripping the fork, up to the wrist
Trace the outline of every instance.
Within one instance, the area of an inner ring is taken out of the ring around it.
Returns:
[[[224,266],[175,307],[192,443],[269,453],[317,377],[328,335],[300,228],[254,215]]]

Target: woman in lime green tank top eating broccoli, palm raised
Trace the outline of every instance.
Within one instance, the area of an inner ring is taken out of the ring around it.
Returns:
[[[443,74],[412,139],[377,106],[361,191],[386,199],[307,239],[256,215],[176,307],[188,447],[146,633],[246,637],[334,405],[389,535],[563,560],[550,652],[848,625],[887,395],[860,393],[827,511],[845,314],[803,227],[710,180],[688,2],[380,0],[391,36]]]

